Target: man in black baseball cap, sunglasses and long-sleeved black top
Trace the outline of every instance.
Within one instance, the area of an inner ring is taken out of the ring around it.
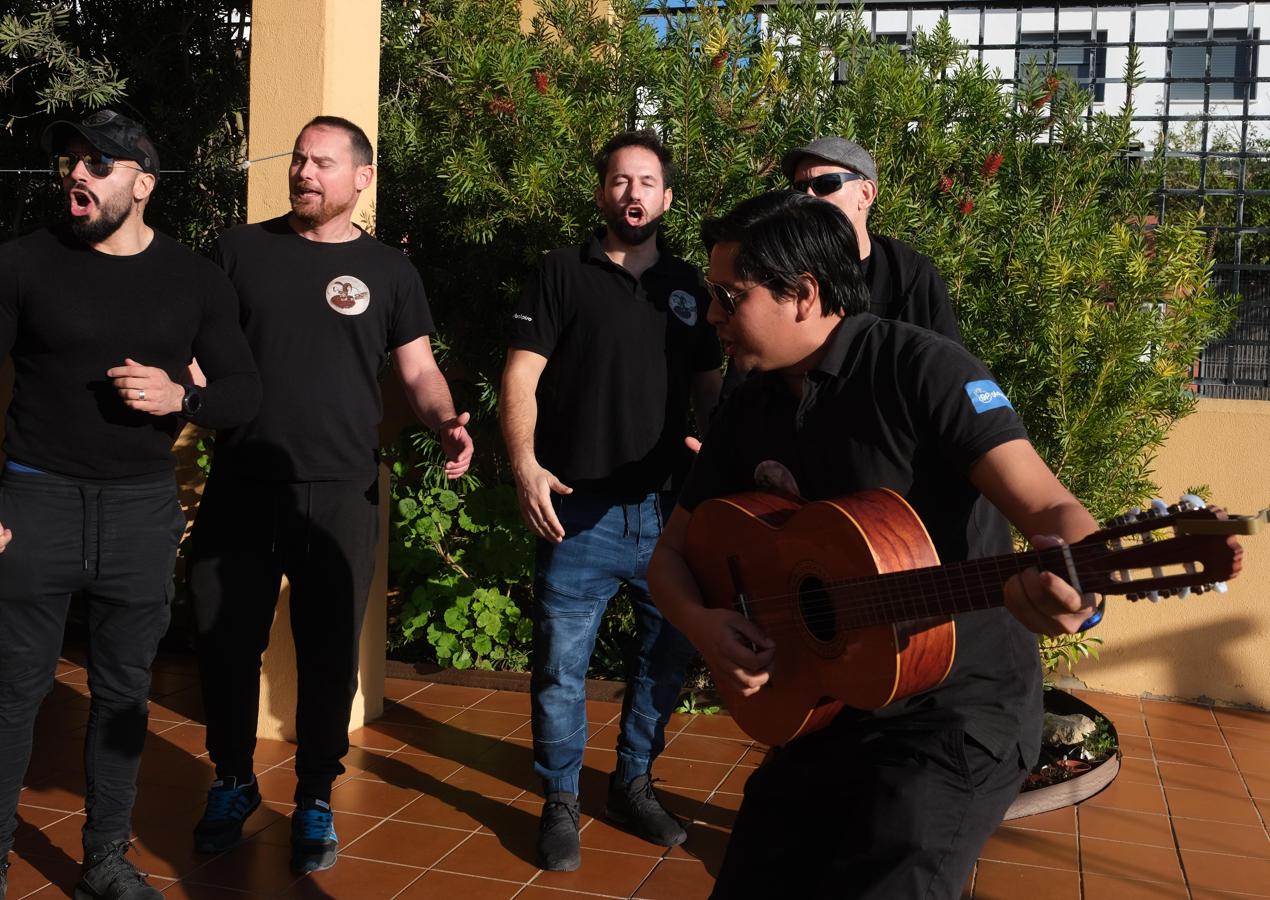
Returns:
[[[0,361],[15,373],[0,471],[0,897],[36,713],[80,593],[91,699],[75,897],[152,900],[124,853],[185,524],[171,442],[187,419],[249,419],[260,380],[229,279],[145,223],[159,174],[145,129],[107,109],[52,123],[42,143],[67,221],[0,246]]]

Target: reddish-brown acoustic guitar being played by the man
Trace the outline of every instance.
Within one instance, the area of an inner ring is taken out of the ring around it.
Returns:
[[[772,678],[743,697],[716,678],[737,724],[765,744],[827,725],[843,706],[876,710],[947,675],[952,613],[1005,604],[1030,566],[1082,593],[1160,599],[1226,590],[1256,517],[1195,496],[1134,510],[1078,543],[941,566],[913,509],[890,490],[808,503],[752,491],[692,513],[686,557],[707,607],[735,609],[776,642]]]

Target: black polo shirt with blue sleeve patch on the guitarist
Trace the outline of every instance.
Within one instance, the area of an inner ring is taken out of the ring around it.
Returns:
[[[1026,439],[992,374],[959,344],[914,325],[861,314],[831,335],[795,397],[773,373],[748,378],[720,410],[679,496],[754,487],[754,467],[782,462],[803,496],[829,499],[889,487],[917,512],[944,562],[1011,551],[1005,517],[966,479],[984,453]],[[1002,608],[959,614],[956,658],[942,684],[876,713],[951,721],[998,758],[1040,740],[1036,642]]]

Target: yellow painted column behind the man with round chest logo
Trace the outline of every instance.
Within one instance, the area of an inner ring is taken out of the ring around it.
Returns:
[[[296,135],[315,116],[343,116],[371,143],[378,135],[380,4],[377,0],[255,0],[251,5],[251,88],[248,118],[248,221],[287,212],[287,165]],[[271,157],[281,154],[274,159]],[[375,225],[375,183],[353,221]],[[380,471],[380,546],[362,628],[361,684],[349,729],[384,712],[387,633],[387,473]],[[290,592],[283,585],[260,679],[262,738],[295,740],[296,661]]]

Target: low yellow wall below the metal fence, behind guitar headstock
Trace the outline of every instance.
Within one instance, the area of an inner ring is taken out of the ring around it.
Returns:
[[[1201,400],[1156,460],[1156,482],[1172,503],[1206,484],[1232,513],[1270,505],[1270,402]],[[1095,632],[1100,659],[1076,678],[1099,691],[1208,698],[1270,708],[1270,531],[1243,539],[1243,571],[1229,593],[1107,600]]]

